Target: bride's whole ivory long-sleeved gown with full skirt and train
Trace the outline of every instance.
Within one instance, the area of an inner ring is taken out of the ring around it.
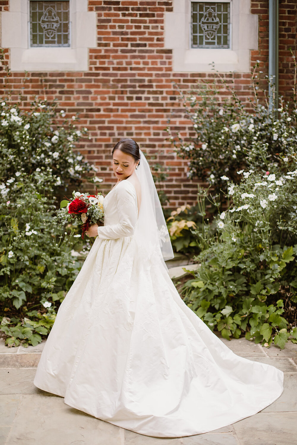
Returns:
[[[34,384],[119,427],[155,437],[206,433],[283,391],[283,372],[236,356],[180,298],[160,251],[134,239],[137,198],[124,180],[66,295]]]

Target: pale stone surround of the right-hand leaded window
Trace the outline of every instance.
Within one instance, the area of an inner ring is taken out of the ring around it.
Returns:
[[[218,1],[230,3],[230,49],[191,48],[191,0],[173,0],[173,12],[165,13],[165,48],[173,50],[174,72],[212,73],[213,62],[220,73],[250,72],[251,50],[258,49],[258,16],[251,14],[251,0]]]

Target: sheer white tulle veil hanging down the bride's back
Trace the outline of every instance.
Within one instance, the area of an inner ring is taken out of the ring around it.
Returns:
[[[148,256],[161,249],[167,261],[174,257],[170,236],[150,166],[142,151],[136,174],[141,185],[141,205],[134,236],[138,247],[142,246]]]

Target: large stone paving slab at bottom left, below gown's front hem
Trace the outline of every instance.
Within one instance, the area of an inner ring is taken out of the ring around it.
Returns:
[[[121,445],[121,429],[70,408],[58,396],[26,394],[7,445]]]

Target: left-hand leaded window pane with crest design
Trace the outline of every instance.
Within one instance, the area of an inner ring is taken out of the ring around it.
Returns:
[[[30,44],[70,46],[68,1],[30,1]]]

